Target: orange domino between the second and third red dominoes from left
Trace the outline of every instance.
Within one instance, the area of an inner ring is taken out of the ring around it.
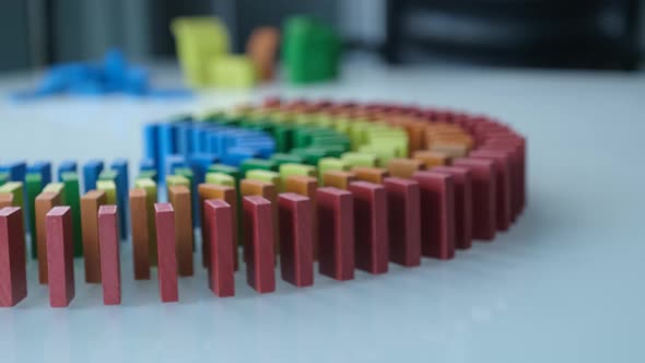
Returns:
[[[101,283],[101,251],[98,246],[98,209],[106,203],[105,191],[90,190],[81,198],[83,224],[83,259],[85,282]]]

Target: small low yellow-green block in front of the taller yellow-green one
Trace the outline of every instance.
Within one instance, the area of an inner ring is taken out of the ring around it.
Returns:
[[[246,56],[224,55],[209,62],[210,84],[219,87],[250,89],[257,83],[253,60]]]

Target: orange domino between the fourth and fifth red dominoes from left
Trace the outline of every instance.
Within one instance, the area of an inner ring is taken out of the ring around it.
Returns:
[[[192,207],[190,190],[183,185],[168,187],[168,201],[175,211],[175,241],[179,276],[192,276]]]

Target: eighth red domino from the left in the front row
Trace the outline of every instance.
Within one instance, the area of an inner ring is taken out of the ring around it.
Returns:
[[[354,278],[354,201],[352,194],[332,187],[316,190],[318,269],[336,280]]]

